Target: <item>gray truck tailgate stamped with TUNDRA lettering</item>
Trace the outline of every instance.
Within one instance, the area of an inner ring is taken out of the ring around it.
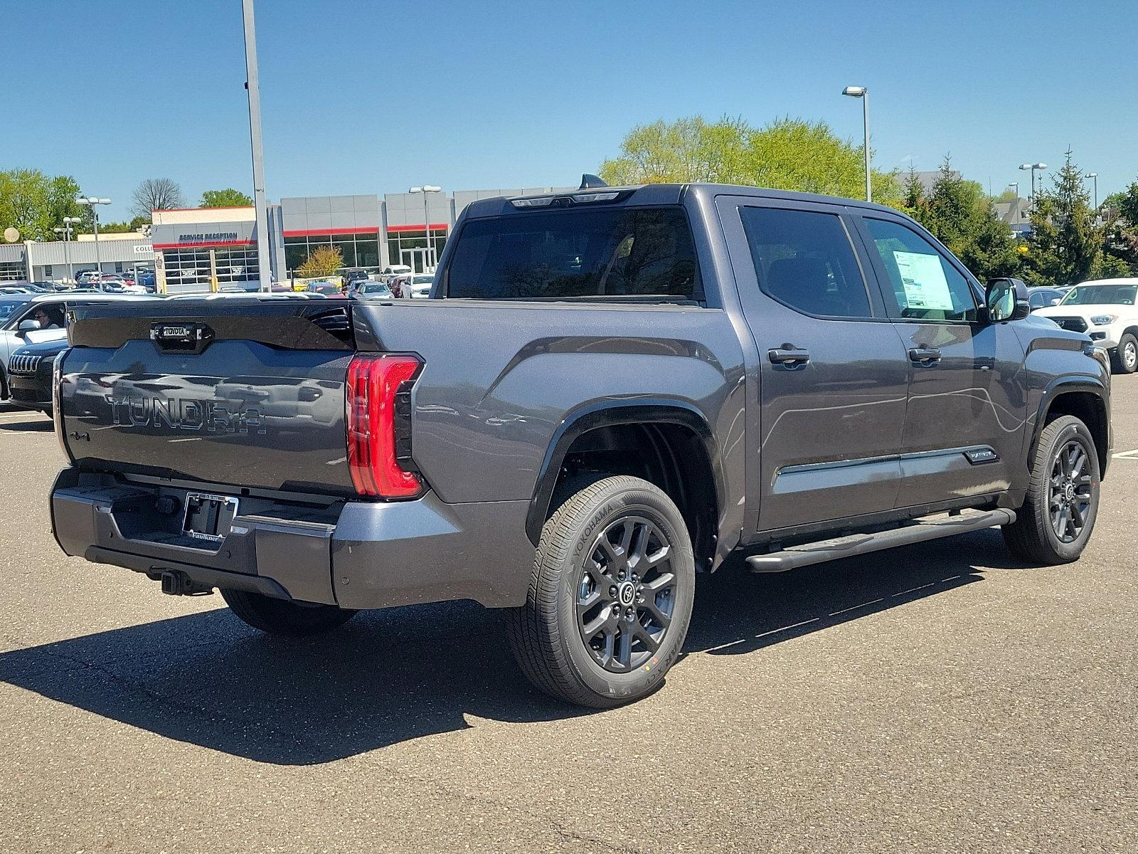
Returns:
[[[58,428],[88,470],[355,494],[347,305],[324,301],[77,309]]]

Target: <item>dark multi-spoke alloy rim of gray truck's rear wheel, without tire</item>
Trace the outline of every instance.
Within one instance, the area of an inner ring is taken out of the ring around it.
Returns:
[[[677,578],[671,544],[655,523],[626,516],[585,552],[577,583],[577,627],[599,665],[627,673],[649,660],[671,625]]]

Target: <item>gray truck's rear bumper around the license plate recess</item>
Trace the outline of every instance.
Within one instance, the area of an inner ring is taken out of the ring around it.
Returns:
[[[428,493],[314,507],[239,496],[232,529],[203,548],[179,531],[185,492],[64,469],[51,493],[52,532],[67,555],[154,578],[174,570],[206,586],[341,608],[453,599],[513,607],[526,599],[528,501],[446,504]]]

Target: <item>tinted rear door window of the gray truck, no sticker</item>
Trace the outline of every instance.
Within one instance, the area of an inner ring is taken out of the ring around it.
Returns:
[[[841,217],[776,207],[741,207],[740,215],[764,294],[806,314],[871,317]]]

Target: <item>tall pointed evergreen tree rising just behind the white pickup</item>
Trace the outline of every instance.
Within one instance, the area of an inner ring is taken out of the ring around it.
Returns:
[[[1037,192],[1032,205],[1026,254],[1032,284],[1065,286],[1091,278],[1102,264],[1105,233],[1069,148],[1052,187]]]

